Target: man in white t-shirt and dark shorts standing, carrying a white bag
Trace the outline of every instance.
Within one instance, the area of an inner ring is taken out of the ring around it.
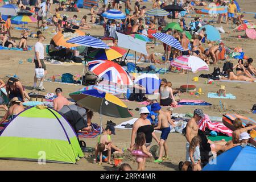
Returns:
[[[37,89],[39,91],[45,91],[46,89],[43,87],[43,81],[44,78],[47,75],[47,70],[46,70],[46,64],[44,63],[44,45],[43,42],[45,40],[45,36],[43,34],[38,35],[38,42],[35,44],[35,57],[34,57],[34,63],[35,63],[35,68],[43,68],[44,69],[44,77],[40,78],[40,84],[39,87],[36,87],[36,83],[38,82],[38,78],[36,78],[36,74],[34,76],[34,86],[33,90]]]

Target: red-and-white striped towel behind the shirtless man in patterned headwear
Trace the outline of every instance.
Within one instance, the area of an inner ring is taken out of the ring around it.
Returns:
[[[197,124],[199,126],[199,129],[202,131],[205,131],[205,129],[209,129],[212,131],[216,131],[217,133],[223,133],[225,135],[228,135],[229,137],[232,137],[232,130],[228,129],[228,127],[226,127],[223,123],[210,121],[210,118],[207,114],[205,114],[205,117],[202,118]]]

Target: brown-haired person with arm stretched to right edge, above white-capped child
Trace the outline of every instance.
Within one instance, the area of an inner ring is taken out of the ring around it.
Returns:
[[[240,143],[240,134],[243,132],[247,132],[248,130],[253,130],[256,128],[256,125],[243,127],[243,123],[240,118],[236,118],[233,122],[233,126],[236,130],[233,131],[232,134],[232,142],[233,143]]]

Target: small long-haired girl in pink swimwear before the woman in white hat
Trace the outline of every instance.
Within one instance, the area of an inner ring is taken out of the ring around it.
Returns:
[[[138,171],[143,171],[145,169],[145,163],[146,163],[146,156],[152,158],[152,154],[147,151],[147,148],[145,146],[146,144],[146,137],[145,134],[142,132],[139,132],[136,137],[136,143],[134,147],[136,148],[135,151],[132,152],[133,155],[136,155],[136,162],[138,163]]]

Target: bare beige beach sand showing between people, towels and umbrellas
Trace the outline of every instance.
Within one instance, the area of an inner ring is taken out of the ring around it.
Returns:
[[[256,2],[254,0],[247,0],[238,1],[240,3],[242,11],[252,12],[255,9]],[[134,1],[133,1],[134,5]],[[151,9],[152,3],[151,2],[143,2],[141,5],[146,5],[148,9]],[[122,5],[123,9],[125,5]],[[53,5],[56,7],[56,5]],[[83,15],[87,15],[89,10],[80,9],[80,13],[68,13],[68,12],[61,12],[72,16],[73,14],[78,15],[78,19],[81,19]],[[195,15],[195,14],[193,14]],[[254,20],[254,14],[245,14],[246,19]],[[205,18],[205,17],[204,17]],[[208,17],[206,17],[209,19]],[[88,21],[89,21],[88,15]],[[189,23],[190,18],[186,18],[187,24]],[[177,19],[174,20],[177,22]],[[168,19],[168,22],[171,22],[171,19]],[[218,24],[214,24],[214,26],[218,26]],[[229,47],[237,47],[241,46],[245,52],[245,55],[248,57],[255,58],[255,40],[250,40],[247,38],[238,39],[238,35],[243,35],[245,32],[236,32],[233,33],[232,29],[226,24],[221,24],[224,27],[225,31],[231,32],[230,34],[221,34],[222,40],[226,46]],[[18,27],[14,25],[14,27]],[[31,31],[36,32],[35,24],[27,24],[26,28],[30,28]],[[49,26],[47,31],[44,31],[44,35],[47,36],[47,39],[44,43],[48,44],[51,40],[52,36],[50,32],[55,27]],[[30,32],[31,32],[30,31]],[[18,30],[12,31],[12,36],[18,39],[20,37],[20,32]],[[102,26],[92,26],[91,30],[86,31],[90,35],[102,36],[104,34],[104,30]],[[28,45],[34,46],[37,39],[28,38]],[[151,52],[158,52],[163,53],[163,46],[159,44],[156,46],[155,49],[151,49]],[[133,52],[131,52],[133,53]],[[34,58],[34,51],[6,51],[1,50],[1,67],[0,67],[0,78],[5,78],[7,75],[16,75],[19,76],[22,84],[25,86],[27,92],[32,91],[33,85],[33,77],[34,77],[34,64],[28,63],[27,59]],[[160,57],[158,57],[160,59]],[[23,61],[23,64],[18,64],[19,60]],[[232,60],[234,64],[237,63],[237,60]],[[222,67],[224,61],[219,61],[218,66]],[[254,61],[254,67],[256,67],[256,61]],[[157,65],[157,67],[163,67]],[[18,72],[16,72],[18,69]],[[82,73],[83,67],[81,65],[47,65],[48,75],[47,78],[52,77],[53,75],[63,74],[63,73],[71,73],[73,75]],[[256,103],[256,83],[251,84],[242,84],[242,83],[230,83],[230,82],[215,82],[214,84],[204,84],[205,78],[199,78],[199,81],[192,81],[193,77],[199,76],[201,73],[212,73],[213,72],[213,65],[210,65],[209,72],[199,72],[199,73],[189,73],[189,83],[196,85],[197,88],[201,88],[203,93],[201,96],[190,96],[189,94],[182,94],[181,98],[183,99],[192,99],[192,100],[205,100],[213,104],[212,106],[182,106],[177,109],[174,109],[175,113],[192,113],[194,109],[201,108],[204,112],[208,115],[214,115],[216,117],[221,117],[222,114],[227,112],[231,113],[238,113],[246,115],[247,117],[256,119],[256,114],[252,114],[249,110]],[[174,88],[179,88],[180,85],[186,84],[187,82],[187,75],[179,75],[178,73],[168,73],[166,75],[160,75],[160,78],[167,78],[168,81],[171,81]],[[216,92],[220,86],[223,84],[226,86],[226,90],[228,93],[232,93],[234,96],[237,97],[236,100],[221,100],[222,104],[224,105],[224,109],[220,108],[219,100],[216,98],[207,98],[208,92]],[[44,87],[47,89],[46,92],[42,92],[42,94],[46,94],[48,92],[54,92],[57,87],[61,87],[64,90],[64,95],[68,97],[68,94],[74,92],[82,86],[74,86],[74,85],[66,85],[66,84],[56,84],[52,82],[44,82]],[[136,107],[141,107],[143,105],[139,105],[137,102],[125,102],[125,104],[130,108],[133,109],[132,112],[134,117],[139,117],[138,111],[135,111]],[[0,117],[3,117],[4,111],[0,110]],[[103,117],[104,125],[106,121],[112,119],[117,125],[121,122],[127,121],[128,119],[121,119],[121,118],[110,118],[110,117]],[[94,113],[93,122],[100,123],[100,117],[98,113]],[[104,126],[105,127],[105,126]],[[114,135],[113,141],[114,144],[117,145],[119,148],[128,148],[130,145],[130,136],[131,130],[116,130],[117,135]],[[159,138],[160,134],[156,133],[156,136]],[[84,139],[86,145],[88,147],[94,147],[96,145],[96,139]],[[155,141],[152,144],[156,144]],[[164,161],[162,164],[155,164],[152,162],[146,163],[147,170],[177,170],[177,165],[180,161],[185,160],[185,137],[181,134],[170,134],[168,137],[168,149],[169,149],[169,159]],[[137,168],[137,163],[135,163],[134,158],[131,158],[127,152],[125,153],[124,161],[129,163],[133,169]],[[1,170],[116,170],[113,166],[109,164],[102,164],[99,166],[98,164],[92,163],[92,158],[81,159],[77,164],[56,164],[56,163],[47,163],[46,165],[39,165],[36,162],[22,162],[22,161],[13,161],[13,160],[0,160],[0,169]]]

